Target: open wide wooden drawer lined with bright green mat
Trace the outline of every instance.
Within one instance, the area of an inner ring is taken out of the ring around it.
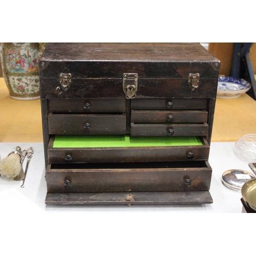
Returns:
[[[129,135],[55,135],[49,163],[110,163],[207,160],[204,137],[130,137]]]

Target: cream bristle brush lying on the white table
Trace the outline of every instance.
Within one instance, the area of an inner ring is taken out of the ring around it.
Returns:
[[[7,158],[0,161],[0,174],[14,180],[24,179],[24,170],[22,163],[26,157],[27,151],[21,150],[19,146],[14,152],[11,152]]]

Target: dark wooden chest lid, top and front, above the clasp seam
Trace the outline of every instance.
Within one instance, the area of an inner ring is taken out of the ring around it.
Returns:
[[[218,78],[220,61],[200,44],[48,44],[39,60],[40,77],[57,78],[72,73],[74,78],[139,77],[187,79],[189,73]],[[217,65],[217,66],[216,66]],[[125,72],[124,72],[125,71]]]

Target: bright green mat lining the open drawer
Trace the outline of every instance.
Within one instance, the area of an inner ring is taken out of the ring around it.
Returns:
[[[199,137],[130,137],[129,135],[55,135],[53,147],[147,147],[202,145]]]

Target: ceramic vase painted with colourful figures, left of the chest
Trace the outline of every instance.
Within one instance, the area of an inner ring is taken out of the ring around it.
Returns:
[[[2,68],[9,95],[13,99],[38,99],[38,47],[36,42],[4,42]]]

